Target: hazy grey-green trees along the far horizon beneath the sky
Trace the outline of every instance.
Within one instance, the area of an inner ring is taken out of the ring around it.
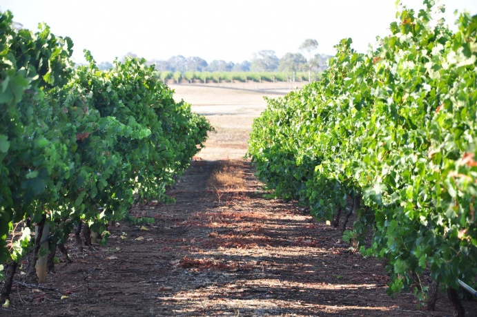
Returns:
[[[171,73],[191,73],[191,72],[313,72],[320,73],[327,68],[327,61],[330,55],[315,54],[313,51],[318,48],[318,42],[313,39],[306,39],[300,50],[307,52],[305,57],[301,52],[287,52],[282,58],[278,58],[273,50],[261,50],[253,54],[251,61],[234,63],[233,61],[213,60],[208,63],[201,57],[184,57],[176,55],[167,60],[151,59],[148,64],[154,65],[159,72]],[[137,57],[134,53],[128,52],[126,56]],[[125,58],[123,57],[123,58]],[[100,69],[108,69],[113,65],[107,61],[98,64]]]

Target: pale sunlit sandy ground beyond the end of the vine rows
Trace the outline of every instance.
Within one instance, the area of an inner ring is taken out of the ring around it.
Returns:
[[[246,142],[253,118],[266,108],[264,97],[278,98],[301,87],[302,83],[248,83],[170,85],[175,100],[183,99],[192,110],[214,126],[206,147],[199,153],[203,160],[241,159],[246,154]]]

